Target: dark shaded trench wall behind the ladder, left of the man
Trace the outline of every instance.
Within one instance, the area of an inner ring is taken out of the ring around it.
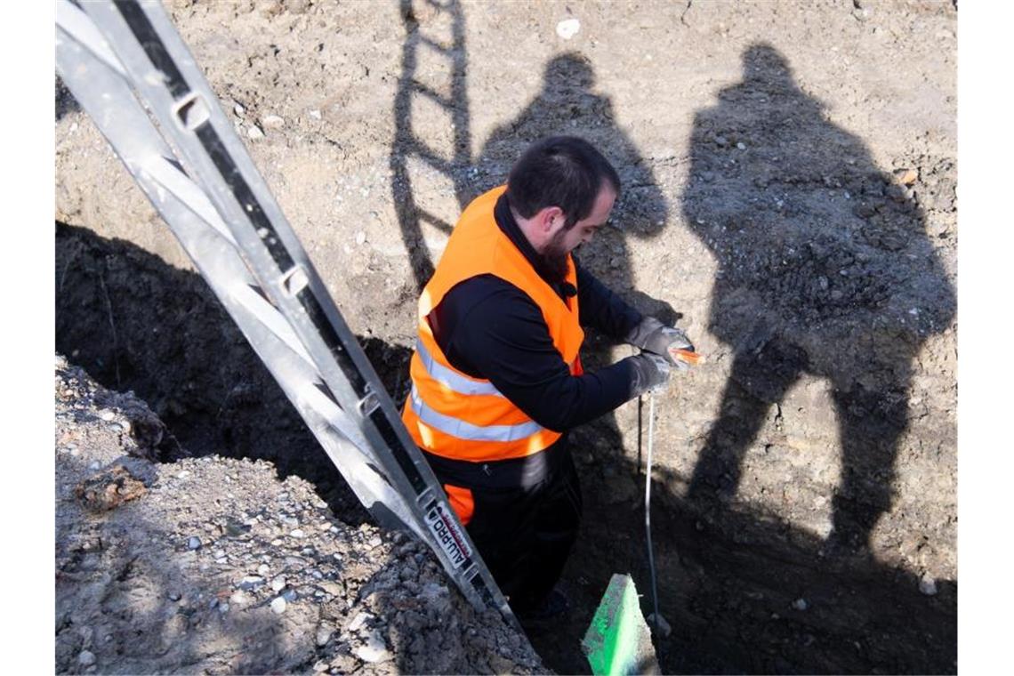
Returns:
[[[263,458],[314,484],[343,521],[369,520],[200,275],[130,242],[57,223],[56,347],[103,386],[133,390],[195,456]],[[395,402],[411,351],[359,337]]]

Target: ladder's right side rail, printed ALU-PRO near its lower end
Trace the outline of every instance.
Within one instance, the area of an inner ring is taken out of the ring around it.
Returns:
[[[469,600],[477,605],[498,607],[508,619],[513,619],[488,569],[475,552],[470,538],[449,510],[432,470],[401,425],[393,403],[380,385],[372,366],[342,320],[315,270],[299,246],[298,238],[282,216],[263,178],[246,155],[242,143],[225,120],[218,107],[217,98],[207,86],[164,11],[158,5],[141,6],[126,2],[118,2],[115,6],[88,3],[85,10],[102,31],[111,36],[111,43],[124,66],[131,72],[135,86],[148,100],[149,107],[159,120],[168,140],[175,142],[173,145],[177,146],[177,155],[190,172],[199,176],[223,220],[230,224],[245,261],[255,273],[260,272],[258,277],[261,288],[287,315],[304,343],[306,352],[313,355],[313,361],[328,388],[338,395],[341,407],[356,422],[371,447],[390,451],[390,454],[380,453],[376,457],[383,465],[387,477],[393,480],[403,496],[416,496],[417,511],[414,516],[428,522],[428,541],[444,568],[458,581]],[[170,48],[159,43],[163,46],[162,51],[153,55],[157,68],[152,69],[153,64],[147,61],[148,55],[143,53],[137,35],[121,20],[123,17],[118,16],[120,10],[133,12],[135,21],[141,15],[145,17],[140,22],[149,31],[144,35],[144,44],[149,48],[153,34],[156,43],[162,37],[167,37],[172,43]],[[140,14],[138,10],[141,10]],[[154,33],[152,20],[147,18],[149,16],[160,25],[157,34]],[[170,56],[170,53],[176,56]],[[180,54],[184,55],[182,59],[178,57]],[[180,74],[180,68],[188,71],[190,82],[199,84],[199,92],[195,93],[190,88],[188,80]],[[151,76],[155,76],[155,79],[146,79]],[[161,79],[166,76],[166,80]],[[176,98],[172,97],[172,92],[177,95]],[[202,130],[206,142],[209,138],[215,142],[210,149],[207,143],[205,147],[196,143]],[[183,132],[191,134],[188,137]],[[223,157],[228,160],[224,165]],[[223,179],[223,169],[231,183]],[[244,211],[257,218],[251,218]],[[250,225],[262,227],[250,232]],[[366,396],[359,396],[356,390],[364,392]],[[362,403],[366,407],[360,409]],[[447,552],[440,546],[439,531],[432,523],[434,515],[445,526],[457,526],[455,540],[458,550],[470,550],[469,553],[473,554],[463,564],[448,558]],[[419,532],[419,524],[415,525],[417,527],[413,530]],[[463,575],[457,572],[457,568],[462,566]],[[464,584],[468,581],[472,582],[473,589]]]

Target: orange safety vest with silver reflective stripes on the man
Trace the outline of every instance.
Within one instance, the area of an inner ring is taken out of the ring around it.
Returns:
[[[500,230],[493,208],[505,190],[505,185],[495,187],[465,208],[419,299],[419,339],[410,369],[412,392],[402,420],[420,448],[456,460],[524,457],[561,437],[528,418],[489,380],[466,375],[447,361],[426,317],[456,284],[492,274],[523,291],[542,311],[553,345],[570,365],[571,374],[583,373],[578,350],[584,330],[578,322],[577,296],[564,301]],[[576,287],[570,255],[567,269],[567,281]]]

